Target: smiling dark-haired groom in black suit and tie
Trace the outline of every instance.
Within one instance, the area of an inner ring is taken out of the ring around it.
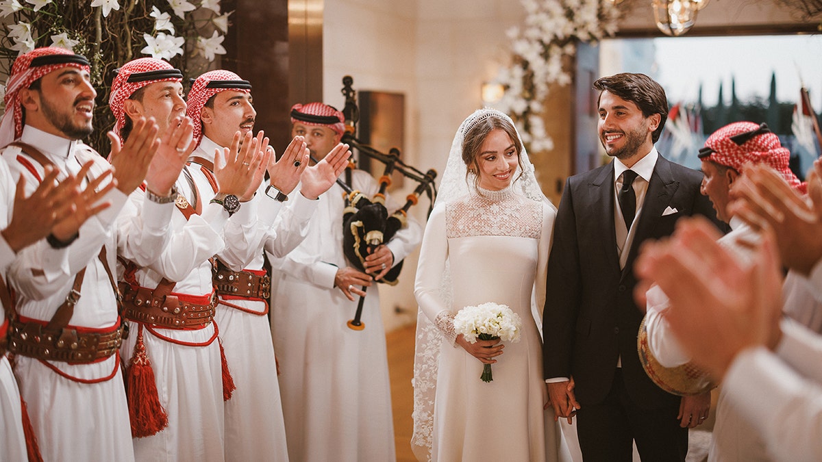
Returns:
[[[700,194],[702,174],[653,146],[667,118],[665,90],[630,73],[593,88],[599,139],[613,160],[568,178],[562,194],[543,312],[548,392],[558,416],[575,411],[586,462],[630,462],[632,441],[642,460],[684,461],[681,398],[654,385],[637,354],[643,312],[633,263],[645,239],[671,234],[680,217],[714,213]]]

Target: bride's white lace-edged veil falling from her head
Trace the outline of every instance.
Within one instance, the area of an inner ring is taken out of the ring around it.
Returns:
[[[462,159],[462,144],[465,134],[480,122],[487,118],[496,117],[506,119],[514,127],[515,123],[505,113],[496,109],[478,109],[466,118],[457,129],[454,141],[451,143],[451,150],[448,155],[446,171],[442,175],[439,193],[436,196],[435,206],[445,206],[447,202],[459,197],[476,193],[473,181],[466,178],[468,167]],[[556,207],[543,194],[539,187],[537,177],[533,169],[533,164],[522,144],[519,131],[517,138],[520,142],[520,170],[517,170],[512,183],[516,194],[526,196],[533,201],[542,201]],[[442,275],[440,285],[440,296],[446,305],[450,306],[452,300],[451,278],[449,265],[446,262],[446,269]],[[413,436],[411,437],[411,447],[418,460],[431,460],[434,430],[434,399],[436,397],[436,374],[439,363],[439,353],[445,337],[441,334],[436,325],[428,319],[422,310],[417,313],[417,336],[414,344],[414,377],[413,377]]]

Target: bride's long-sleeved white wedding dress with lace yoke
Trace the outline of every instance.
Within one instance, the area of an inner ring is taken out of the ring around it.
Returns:
[[[543,410],[542,344],[532,314],[532,297],[543,307],[555,216],[547,201],[509,187],[438,204],[428,219],[415,294],[444,335],[439,344],[417,345],[418,356],[420,349],[438,354],[439,367],[436,384],[415,377],[414,386],[436,386],[432,460],[570,460],[553,410]],[[508,305],[523,321],[520,341],[505,344],[489,383],[479,378],[483,363],[454,343],[451,322],[460,308],[486,302]],[[423,418],[418,412],[414,418]]]

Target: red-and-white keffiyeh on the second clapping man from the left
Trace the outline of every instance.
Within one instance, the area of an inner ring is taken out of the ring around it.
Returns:
[[[123,64],[111,84],[109,109],[117,122],[114,132],[120,135],[126,126],[126,111],[123,108],[126,99],[146,85],[161,81],[182,81],[182,72],[171,64],[156,58],[137,58]]]

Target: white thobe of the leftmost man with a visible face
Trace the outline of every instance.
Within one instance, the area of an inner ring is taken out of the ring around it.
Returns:
[[[21,141],[35,146],[63,173],[78,172],[81,164],[90,159],[95,160],[92,175],[109,169],[102,157],[80,141],[69,141],[33,127],[24,127]],[[21,173],[25,176],[26,194],[31,194],[39,178],[44,177],[43,166],[28,158],[30,167],[37,172],[35,177],[18,159],[19,148],[8,146],[2,155],[14,177]],[[49,321],[71,291],[76,273],[85,267],[82,296],[69,325],[97,329],[116,326],[117,302],[98,253],[105,246],[108,265],[113,270],[117,253],[113,223],[127,197],[114,189],[104,200],[111,202],[109,209],[86,220],[79,237],[68,247],[55,250],[41,240],[18,253],[8,277],[16,289],[16,307],[21,316]],[[15,368],[44,460],[62,460],[67,455],[77,460],[133,460],[118,355],[97,363],[48,364],[66,377],[53,372],[46,362],[21,355],[17,356]],[[106,377],[111,378],[104,380]],[[99,382],[85,384],[77,380]]]

